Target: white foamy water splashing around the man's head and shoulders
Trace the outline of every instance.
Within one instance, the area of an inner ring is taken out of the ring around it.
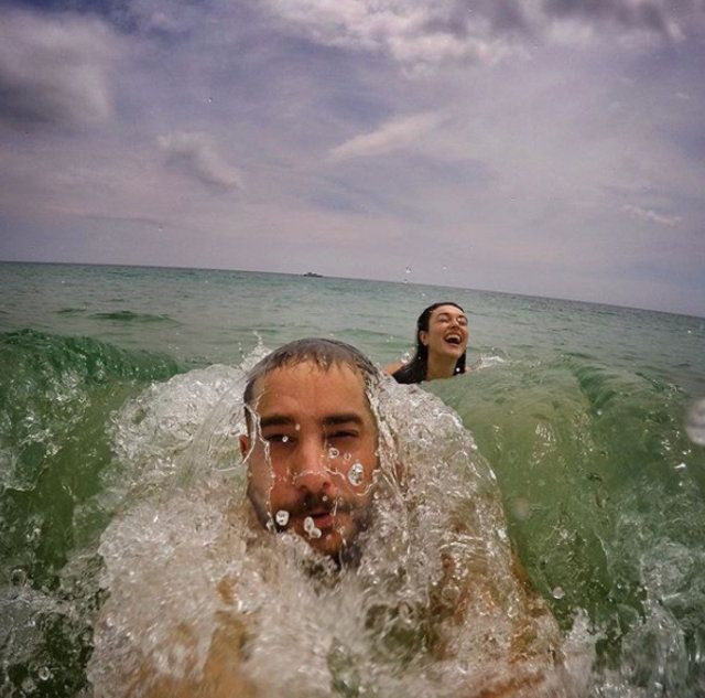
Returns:
[[[110,595],[89,665],[99,695],[119,695],[130,677],[140,676],[144,691],[145,676],[197,677],[221,633],[245,626],[241,668],[263,696],[473,695],[533,672],[552,695],[571,695],[592,641],[576,623],[563,664],[553,666],[560,633],[511,571],[492,473],[437,398],[391,380],[369,396],[380,433],[371,525],[359,536],[357,567],[338,571],[304,539],[252,528],[243,472],[223,468],[234,458],[234,429],[245,428],[232,419],[231,397],[227,410],[216,408],[220,418],[209,421],[208,438],[200,434],[199,451],[184,448],[192,429],[164,408],[178,404],[189,380],[151,388],[138,400],[137,428],[131,406],[116,423],[116,441],[130,433],[130,459],[143,463],[133,487],[159,480],[161,494],[150,486],[102,536]],[[232,374],[223,395],[240,385]],[[174,438],[158,449],[152,425],[164,423]],[[180,471],[194,460],[199,477],[184,479]],[[351,482],[361,470],[352,464]],[[313,517],[304,529],[322,535]],[[473,622],[458,623],[458,613]],[[522,668],[509,663],[516,642],[529,657]]]

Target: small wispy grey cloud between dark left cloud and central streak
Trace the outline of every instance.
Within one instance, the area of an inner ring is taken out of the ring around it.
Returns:
[[[178,131],[160,136],[158,143],[169,164],[207,186],[243,189],[240,173],[221,158],[208,133]]]

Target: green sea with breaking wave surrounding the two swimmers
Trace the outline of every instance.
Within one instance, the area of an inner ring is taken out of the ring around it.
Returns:
[[[422,388],[471,434],[531,584],[588,647],[583,695],[705,696],[705,319],[409,277],[0,262],[0,695],[97,695],[106,580],[141,565],[120,547],[126,530],[185,535],[175,508],[142,529],[126,512],[154,496],[170,453],[193,455],[198,425],[223,420],[223,396],[258,357],[322,336],[383,366],[410,355],[423,308],[453,301],[470,369]],[[411,421],[424,404],[400,409]],[[184,567],[160,583],[198,582]],[[343,663],[357,657],[357,678],[333,676],[328,656],[301,695],[422,695],[358,640]],[[282,672],[303,652],[286,646]],[[423,695],[456,695],[443,680]]]

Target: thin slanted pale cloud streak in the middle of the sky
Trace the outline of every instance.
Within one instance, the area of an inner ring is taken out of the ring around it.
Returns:
[[[437,114],[416,114],[388,121],[371,133],[356,136],[330,151],[334,160],[372,158],[413,144],[421,136],[438,125]]]

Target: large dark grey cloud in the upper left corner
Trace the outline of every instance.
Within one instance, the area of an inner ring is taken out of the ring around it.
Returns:
[[[118,53],[118,37],[98,19],[3,11],[0,121],[35,129],[107,119]]]

